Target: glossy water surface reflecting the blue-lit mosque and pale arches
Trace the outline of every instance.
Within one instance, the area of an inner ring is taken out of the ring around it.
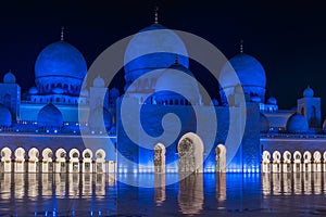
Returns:
[[[0,174],[0,216],[326,215],[326,174]],[[155,181],[136,188],[115,178]]]

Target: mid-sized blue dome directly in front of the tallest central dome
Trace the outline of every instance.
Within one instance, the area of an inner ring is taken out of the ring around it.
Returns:
[[[155,86],[155,99],[162,101],[160,99],[168,100],[181,95],[173,90],[183,90],[183,95],[187,95],[188,101],[193,104],[200,103],[201,95],[197,80],[193,74],[183,65],[173,64],[162,72]]]

